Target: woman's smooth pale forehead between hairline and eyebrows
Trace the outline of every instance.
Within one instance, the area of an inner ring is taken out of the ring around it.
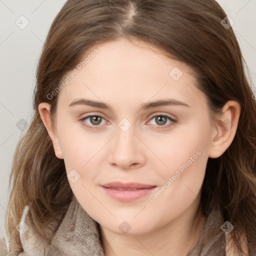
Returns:
[[[186,64],[137,40],[121,38],[94,45],[67,74],[69,78],[72,72],[60,91],[59,100],[65,100],[65,105],[81,96],[107,103],[111,99],[111,105],[113,100],[140,104],[166,96],[194,101],[200,93],[192,88],[196,80]]]

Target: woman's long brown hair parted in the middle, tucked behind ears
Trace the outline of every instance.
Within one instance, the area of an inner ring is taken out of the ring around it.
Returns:
[[[200,206],[207,214],[216,196],[224,219],[241,250],[239,235],[246,231],[249,253],[256,248],[256,103],[245,77],[245,62],[232,27],[221,20],[226,14],[215,0],[68,0],[51,24],[37,66],[33,118],[20,139],[11,169],[13,186],[6,217],[11,251],[21,251],[15,229],[29,205],[32,227],[50,242],[45,226],[63,219],[72,191],[63,159],[55,156],[41,121],[38,105],[51,104],[52,120],[58,94],[51,93],[63,76],[98,43],[120,37],[143,40],[167,56],[189,65],[212,111],[228,100],[241,105],[235,137],[218,158],[209,158],[202,184]],[[221,231],[221,230],[220,230]]]

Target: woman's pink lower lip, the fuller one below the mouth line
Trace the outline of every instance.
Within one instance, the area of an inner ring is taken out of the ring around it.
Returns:
[[[131,201],[149,194],[150,192],[152,192],[152,190],[156,186],[153,186],[150,188],[141,188],[136,190],[117,190],[117,189],[111,189],[104,186],[102,187],[109,196],[115,199],[118,199],[120,201]]]

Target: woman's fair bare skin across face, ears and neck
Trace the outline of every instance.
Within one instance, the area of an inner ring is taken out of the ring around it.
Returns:
[[[50,105],[39,105],[56,157],[64,159],[67,173],[72,169],[79,173],[69,183],[83,209],[99,223],[106,256],[186,255],[198,242],[205,222],[196,210],[207,159],[220,156],[232,142],[240,105],[227,101],[212,125],[206,95],[195,86],[187,65],[142,41],[121,38],[95,47],[98,54],[59,92],[55,126],[49,117]],[[169,75],[174,67],[183,72],[178,80]],[[112,111],[69,106],[78,98],[102,101]],[[141,109],[143,103],[166,98],[189,106]],[[90,118],[80,120],[89,114],[104,118],[99,124]],[[154,114],[177,122],[157,121]],[[131,124],[127,131],[118,127],[123,118]],[[226,128],[226,120],[231,121],[231,129]],[[200,156],[158,198],[149,201],[198,151]],[[123,202],[109,197],[100,186],[112,181],[140,182],[156,189]],[[118,228],[123,221],[130,226],[125,234]]]

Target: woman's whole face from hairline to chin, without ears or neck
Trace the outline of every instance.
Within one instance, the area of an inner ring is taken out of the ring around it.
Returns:
[[[134,43],[104,42],[68,74],[54,148],[93,219],[115,233],[142,234],[198,206],[213,131],[191,70]]]

